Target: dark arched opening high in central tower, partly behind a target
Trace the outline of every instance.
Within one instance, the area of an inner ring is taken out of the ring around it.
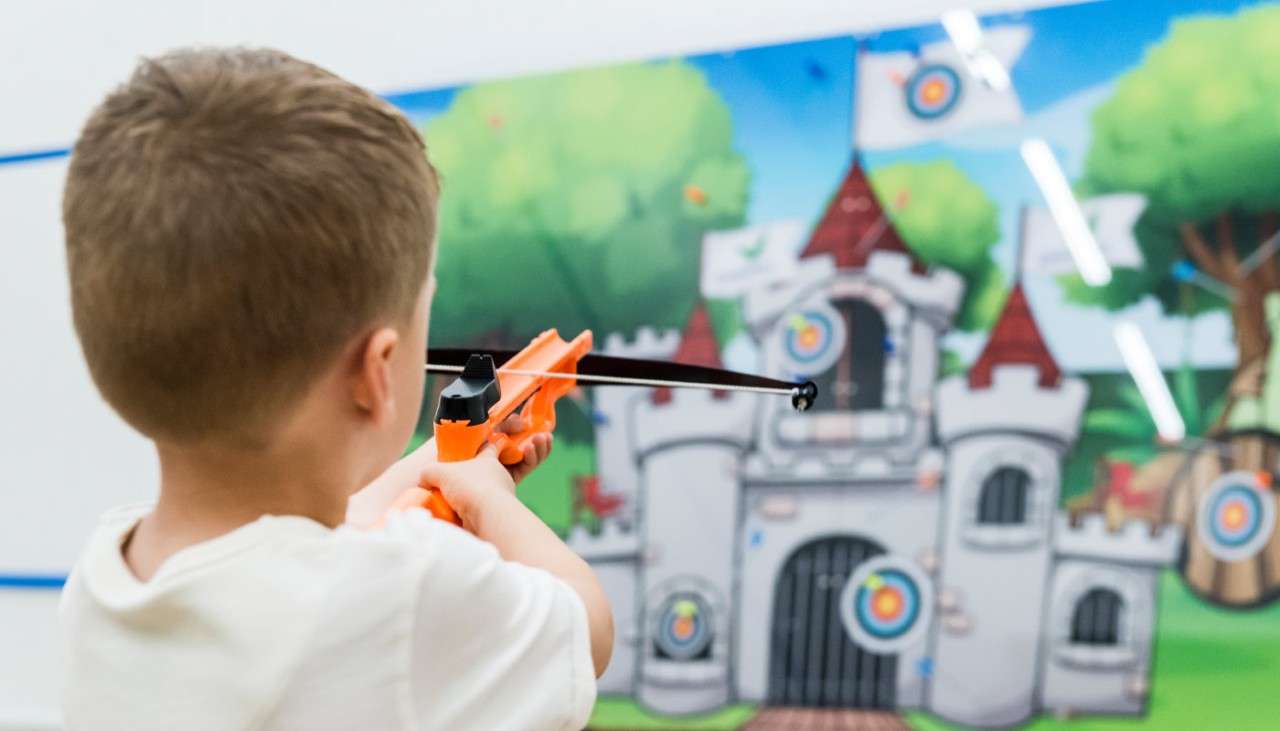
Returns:
[[[845,320],[846,344],[836,365],[813,380],[818,384],[814,411],[874,411],[884,407],[884,315],[865,300],[841,300],[832,306]]]

